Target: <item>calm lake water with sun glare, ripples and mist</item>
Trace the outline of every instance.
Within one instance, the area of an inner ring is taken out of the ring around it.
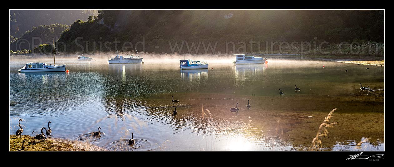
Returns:
[[[69,73],[18,73],[31,61],[10,60],[9,134],[21,118],[24,135],[51,121],[52,137],[108,150],[308,150],[324,117],[338,108],[322,150],[360,150],[355,145],[365,138],[361,150],[385,150],[384,66],[223,59],[208,61],[213,70],[181,71],[178,59],[63,60]],[[360,83],[375,91],[360,91]],[[176,117],[171,96],[180,101]],[[236,103],[240,111],[230,112]],[[91,136],[98,127],[105,134]],[[131,132],[135,146],[127,145]]]

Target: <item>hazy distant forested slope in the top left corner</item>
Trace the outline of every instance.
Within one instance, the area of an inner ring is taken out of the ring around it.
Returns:
[[[19,38],[33,27],[56,23],[70,25],[75,20],[86,20],[97,14],[97,10],[10,10],[10,35]]]

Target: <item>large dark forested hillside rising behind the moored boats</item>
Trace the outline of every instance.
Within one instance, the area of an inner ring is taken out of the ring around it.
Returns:
[[[137,49],[156,53],[171,53],[174,43],[181,46],[182,41],[187,41],[189,46],[194,42],[196,47],[199,42],[205,46],[211,42],[212,47],[217,42],[215,52],[222,53],[226,51],[225,42],[234,42],[238,47],[242,41],[246,44],[244,50],[249,52],[251,39],[264,42],[261,50],[266,47],[266,41],[384,42],[384,11],[381,10],[99,10],[98,13],[97,19],[74,22],[61,35],[59,42],[66,44],[66,52],[82,51],[79,45],[88,53],[114,51],[115,40],[120,42],[117,50],[125,42],[135,45],[143,40],[145,47],[139,44]],[[76,43],[77,37],[82,38]],[[110,44],[104,46],[107,41]],[[124,51],[133,50],[134,46],[126,46],[129,48]],[[204,53],[206,48],[201,44],[197,51]],[[257,44],[253,48],[256,52]],[[187,52],[185,43],[181,53]]]

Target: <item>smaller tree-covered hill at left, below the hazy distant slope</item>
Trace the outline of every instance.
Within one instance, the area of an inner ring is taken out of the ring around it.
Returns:
[[[26,31],[19,40],[12,42],[10,44],[10,50],[32,50],[39,44],[44,44],[46,42],[52,43],[52,40],[56,41],[59,39],[63,31],[68,28],[69,26],[63,24],[41,25],[37,28],[34,27],[32,31]]]

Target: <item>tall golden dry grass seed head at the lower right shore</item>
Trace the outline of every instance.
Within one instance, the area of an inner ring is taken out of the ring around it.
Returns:
[[[320,124],[319,130],[318,130],[318,132],[316,133],[316,137],[313,138],[312,143],[311,143],[310,146],[309,146],[309,150],[310,150],[310,151],[319,151],[320,148],[323,148],[323,145],[322,145],[322,137],[323,137],[323,136],[327,136],[327,134],[328,134],[327,128],[333,128],[333,127],[334,127],[333,125],[336,124],[336,122],[329,123],[329,122],[330,122],[329,119],[333,117],[333,113],[334,113],[334,111],[335,111],[336,109],[337,109],[337,108],[334,108],[333,110],[331,110],[331,112],[328,113],[327,117],[324,118],[323,123]]]

